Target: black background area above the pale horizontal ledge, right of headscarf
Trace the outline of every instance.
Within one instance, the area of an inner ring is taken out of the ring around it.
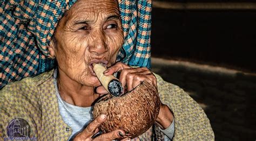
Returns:
[[[217,0],[153,3],[153,56],[207,61],[256,72],[255,39],[255,4]]]

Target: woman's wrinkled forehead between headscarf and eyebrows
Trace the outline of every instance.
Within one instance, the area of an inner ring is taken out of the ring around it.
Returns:
[[[80,23],[100,25],[110,18],[121,20],[116,0],[78,0],[60,19],[59,27],[70,30]]]

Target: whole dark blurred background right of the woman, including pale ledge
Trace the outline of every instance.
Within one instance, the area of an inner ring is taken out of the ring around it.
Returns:
[[[256,139],[256,1],[153,1],[152,70],[196,100],[216,140]]]

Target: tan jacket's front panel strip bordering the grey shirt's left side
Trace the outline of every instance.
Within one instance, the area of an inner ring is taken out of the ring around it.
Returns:
[[[72,129],[62,119],[59,113],[58,99],[53,84],[53,69],[35,77],[35,85],[37,86],[42,103],[42,123],[45,128],[42,130],[54,129],[56,139],[68,140],[72,133]],[[47,126],[46,126],[47,125]]]

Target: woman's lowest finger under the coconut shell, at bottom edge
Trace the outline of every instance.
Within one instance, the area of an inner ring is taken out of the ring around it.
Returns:
[[[123,130],[114,130],[112,132],[104,133],[103,135],[100,135],[93,140],[113,140],[122,138],[124,135],[125,133]]]

